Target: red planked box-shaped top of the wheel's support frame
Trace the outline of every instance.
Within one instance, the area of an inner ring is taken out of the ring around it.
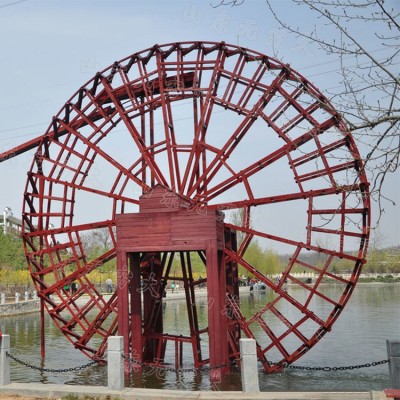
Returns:
[[[169,207],[166,198],[176,201],[178,208]],[[139,205],[139,213],[116,216],[118,250],[204,250],[207,240],[215,241],[218,249],[224,246],[224,225],[218,211],[201,214],[187,210],[186,199],[162,186],[141,196]]]

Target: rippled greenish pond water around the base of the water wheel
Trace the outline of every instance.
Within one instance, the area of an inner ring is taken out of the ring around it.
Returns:
[[[304,290],[290,288],[289,290]],[[334,296],[334,286],[325,288]],[[241,303],[249,307],[257,296],[268,293],[247,294]],[[201,299],[199,302],[203,301]],[[205,301],[205,299],[204,299]],[[345,310],[336,321],[332,332],[299,359],[295,365],[307,367],[340,367],[371,363],[387,359],[386,339],[400,339],[400,285],[359,284]],[[199,307],[201,309],[202,307]],[[204,309],[206,304],[204,303]],[[184,300],[166,302],[165,331],[181,332],[185,318]],[[205,314],[199,315],[204,320]],[[48,369],[69,369],[87,364],[88,360],[77,351],[46,317],[46,359],[40,359],[39,314],[3,317],[0,328],[11,337],[11,354],[27,363]],[[369,391],[389,387],[388,365],[370,368],[322,372],[291,370],[277,374],[259,373],[262,391]],[[80,371],[62,373],[41,372],[11,361],[11,380],[14,382],[65,383],[73,385],[107,385],[106,366],[94,365]],[[233,372],[216,386],[211,385],[208,371],[150,370],[132,374],[127,386],[182,390],[241,390],[240,374]]]

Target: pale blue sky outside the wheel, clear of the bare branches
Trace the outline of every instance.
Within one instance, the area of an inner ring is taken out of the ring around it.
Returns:
[[[0,152],[44,133],[97,71],[156,43],[225,41],[277,55],[323,93],[337,84],[337,60],[280,30],[263,0],[214,8],[218,3],[0,0]],[[274,4],[289,22],[301,21],[306,29],[320,24],[289,1]],[[364,25],[359,29],[367,32]],[[31,162],[26,153],[0,164],[0,208],[10,207],[15,216]],[[386,185],[396,205],[385,204],[377,237],[380,246],[399,245],[399,174]]]

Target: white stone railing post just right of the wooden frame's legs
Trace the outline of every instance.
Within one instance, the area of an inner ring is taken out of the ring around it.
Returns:
[[[260,385],[258,382],[256,341],[254,339],[239,339],[239,343],[242,391],[257,393],[260,391]]]

